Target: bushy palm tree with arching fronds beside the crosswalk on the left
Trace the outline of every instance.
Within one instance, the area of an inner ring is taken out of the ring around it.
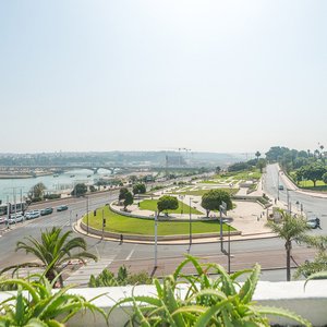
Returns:
[[[86,264],[85,258],[97,261],[94,254],[86,252],[86,242],[84,239],[73,238],[69,240],[72,231],[63,234],[61,234],[61,231],[60,228],[53,227],[50,231],[46,230],[41,233],[40,242],[33,237],[26,238],[27,242],[17,242],[15,251],[25,250],[26,254],[33,254],[39,262],[10,266],[0,271],[0,275],[11,269],[15,272],[22,267],[45,267],[46,277],[52,281],[59,275],[59,282],[62,287],[61,272],[70,261],[80,259],[84,265]],[[82,251],[78,252],[78,250]]]

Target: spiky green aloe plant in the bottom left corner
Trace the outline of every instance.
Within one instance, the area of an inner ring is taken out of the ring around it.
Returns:
[[[32,280],[37,278],[36,280]],[[7,279],[0,286],[16,286],[17,291],[0,303],[0,326],[49,326],[60,327],[77,312],[89,310],[99,313],[106,320],[106,313],[92,304],[97,298],[86,301],[81,295],[69,294],[72,286],[52,292],[53,283],[43,275],[33,275],[28,280]]]

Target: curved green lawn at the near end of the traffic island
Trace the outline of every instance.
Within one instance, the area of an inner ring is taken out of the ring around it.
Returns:
[[[152,219],[130,218],[118,215],[111,211],[108,206],[104,208],[106,218],[106,231],[117,233],[143,234],[153,235],[155,231],[155,221]],[[86,223],[86,217],[83,221]],[[93,211],[88,215],[88,223],[90,227],[102,229],[102,208],[97,209],[97,216]],[[189,221],[159,221],[158,235],[189,234]],[[228,231],[228,226],[222,225],[225,231]],[[231,227],[231,231],[235,229]],[[192,222],[192,233],[210,233],[219,232],[218,221],[194,221]]]

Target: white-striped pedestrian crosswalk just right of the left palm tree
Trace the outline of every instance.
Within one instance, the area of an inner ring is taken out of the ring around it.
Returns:
[[[100,258],[98,262],[88,262],[87,265],[82,266],[66,278],[64,284],[68,286],[73,283],[83,287],[87,286],[90,275],[94,275],[95,277],[98,276],[114,258],[116,255],[111,255],[106,258]]]

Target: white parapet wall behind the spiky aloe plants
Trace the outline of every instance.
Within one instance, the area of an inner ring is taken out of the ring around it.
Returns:
[[[92,300],[100,294],[102,296],[96,299],[94,304],[109,312],[117,301],[132,295],[149,295],[156,294],[154,286],[136,286],[136,287],[114,287],[114,288],[85,288],[71,289],[70,293],[75,293]],[[11,292],[12,293],[12,292]],[[183,294],[183,290],[181,291]],[[7,292],[0,293],[0,301],[5,299]],[[269,282],[259,281],[253,300],[261,305],[269,305],[288,308],[310,320],[313,326],[327,325],[327,280],[308,281],[304,289],[304,281],[291,282]],[[123,308],[114,308],[110,315],[109,326],[124,326],[129,319],[132,307],[126,304]],[[269,317],[271,324],[280,326],[295,326],[296,323],[279,318]],[[99,315],[93,315],[90,312],[81,313],[73,317],[66,326],[107,326],[106,320]]]

